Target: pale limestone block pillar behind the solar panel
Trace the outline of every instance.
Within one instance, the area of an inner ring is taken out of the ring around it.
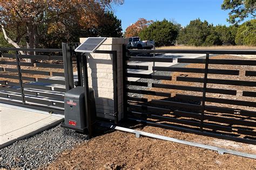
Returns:
[[[80,38],[84,42],[86,38]],[[117,96],[118,119],[123,118],[123,70],[122,45],[127,44],[126,38],[107,38],[98,50],[117,51]],[[112,54],[87,54],[89,87],[95,90],[96,111],[98,117],[113,119],[114,85]]]

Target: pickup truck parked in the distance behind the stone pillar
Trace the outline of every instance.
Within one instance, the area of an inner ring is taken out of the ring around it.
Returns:
[[[131,37],[129,38],[129,42],[127,44],[129,49],[137,48],[137,49],[152,49],[154,47],[153,40],[141,41],[139,37]]]

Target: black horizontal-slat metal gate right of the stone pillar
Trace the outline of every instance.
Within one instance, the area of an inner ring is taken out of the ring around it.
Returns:
[[[256,144],[256,50],[123,51],[126,118]]]

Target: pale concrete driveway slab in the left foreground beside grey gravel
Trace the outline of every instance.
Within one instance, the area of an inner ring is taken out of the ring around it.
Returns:
[[[0,103],[0,148],[57,125],[63,119],[63,115]]]

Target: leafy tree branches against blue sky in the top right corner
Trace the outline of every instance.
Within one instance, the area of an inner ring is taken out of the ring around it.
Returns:
[[[255,18],[255,0],[224,0],[221,9],[231,10],[227,21],[231,24],[239,23],[247,17]]]

